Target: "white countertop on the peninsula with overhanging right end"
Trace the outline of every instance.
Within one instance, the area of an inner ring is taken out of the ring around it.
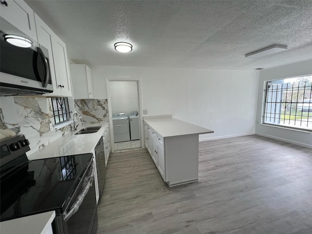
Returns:
[[[213,130],[199,127],[172,117],[143,117],[144,121],[162,137],[176,137],[193,134],[213,133]]]

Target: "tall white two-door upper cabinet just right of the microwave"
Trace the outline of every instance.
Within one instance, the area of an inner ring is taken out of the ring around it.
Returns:
[[[49,96],[71,97],[71,79],[67,59],[66,45],[35,14],[38,42],[49,50],[53,93]]]

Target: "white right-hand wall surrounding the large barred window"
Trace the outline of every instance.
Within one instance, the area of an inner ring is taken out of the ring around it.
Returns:
[[[258,105],[256,117],[256,134],[281,139],[312,148],[312,134],[290,129],[277,128],[261,124],[264,82],[271,79],[291,78],[312,74],[312,60],[297,62],[281,67],[260,71],[258,87]]]

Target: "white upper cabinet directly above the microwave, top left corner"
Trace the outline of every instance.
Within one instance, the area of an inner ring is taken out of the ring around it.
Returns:
[[[4,20],[37,41],[34,11],[24,1],[1,0],[0,13]]]

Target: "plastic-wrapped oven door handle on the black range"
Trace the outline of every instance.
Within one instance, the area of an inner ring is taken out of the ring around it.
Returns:
[[[72,205],[72,207],[70,208],[69,212],[65,212],[63,214],[63,220],[65,222],[68,221],[68,219],[73,216],[79,209],[79,206],[81,205],[84,197],[87,195],[87,193],[89,192],[89,189],[91,187],[91,184],[93,182],[93,178],[94,178],[94,170],[95,170],[95,166],[96,166],[96,163],[93,162],[92,163],[92,169],[91,169],[91,172],[89,173],[89,175],[87,175],[84,180],[83,180],[83,183],[82,183],[82,191],[81,193],[77,196],[74,204]]]

